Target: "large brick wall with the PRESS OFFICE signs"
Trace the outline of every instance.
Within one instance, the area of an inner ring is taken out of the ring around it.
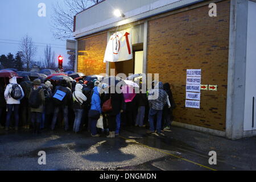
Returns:
[[[175,121],[225,131],[230,1],[216,4],[217,17],[203,6],[149,21],[147,73],[171,84]],[[200,109],[186,108],[186,70],[200,68],[217,92],[201,90]]]

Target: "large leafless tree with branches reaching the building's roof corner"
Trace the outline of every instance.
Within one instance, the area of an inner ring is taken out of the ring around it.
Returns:
[[[53,5],[52,32],[56,39],[65,40],[73,37],[74,16],[103,0],[64,0],[61,6],[58,2]]]

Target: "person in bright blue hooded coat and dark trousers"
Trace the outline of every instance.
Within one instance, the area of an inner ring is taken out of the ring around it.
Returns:
[[[89,122],[90,122],[90,133],[92,137],[100,137],[100,134],[97,134],[97,121],[101,115],[101,96],[100,92],[100,81],[94,82],[93,94],[92,94],[92,101],[90,110],[88,113]]]

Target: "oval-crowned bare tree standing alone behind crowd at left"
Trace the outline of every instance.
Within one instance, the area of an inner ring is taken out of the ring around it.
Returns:
[[[32,42],[32,38],[30,38],[28,35],[22,38],[20,51],[22,51],[22,61],[26,65],[28,71],[32,66],[32,60],[34,59],[36,53],[36,47]]]

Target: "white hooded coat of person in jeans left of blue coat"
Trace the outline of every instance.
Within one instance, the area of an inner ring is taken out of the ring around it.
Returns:
[[[73,109],[82,109],[82,104],[87,100],[86,96],[82,93],[82,85],[76,84],[75,92],[73,92]]]

